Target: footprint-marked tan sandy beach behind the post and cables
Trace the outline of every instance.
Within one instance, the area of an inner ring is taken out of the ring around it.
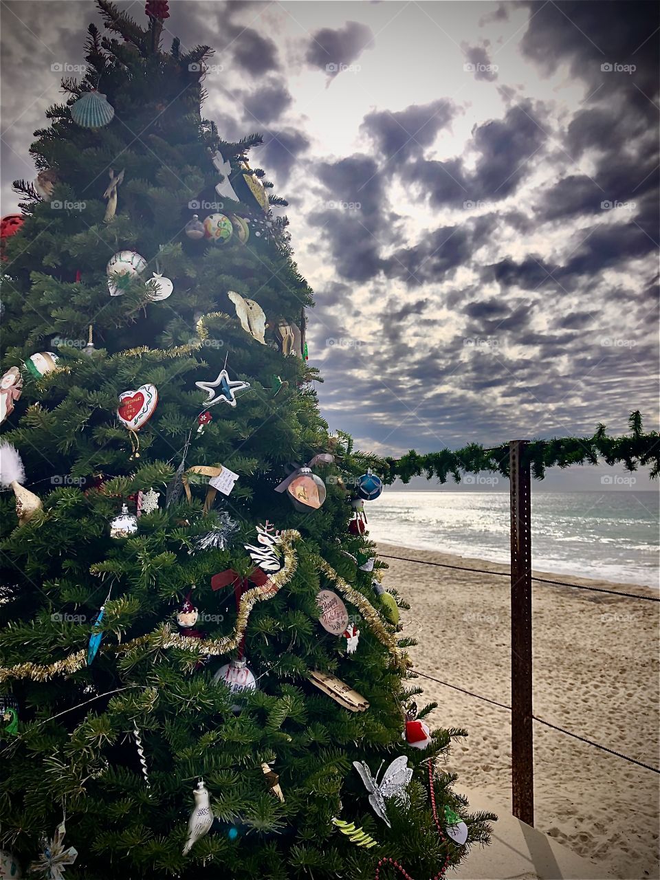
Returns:
[[[405,632],[420,671],[510,705],[510,582],[505,577],[386,555],[506,571],[506,567],[379,544],[385,586],[407,598]],[[539,576],[551,576],[535,572]],[[557,580],[657,595],[629,584]],[[537,583],[533,587],[534,713],[658,766],[660,605]],[[431,726],[468,730],[452,748],[458,785],[510,803],[510,713],[426,678],[439,705]],[[419,699],[420,704],[423,698]],[[658,775],[534,724],[535,825],[620,878],[658,876]]]

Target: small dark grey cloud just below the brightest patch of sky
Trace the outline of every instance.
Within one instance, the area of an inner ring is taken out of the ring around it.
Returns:
[[[419,155],[429,147],[456,111],[453,101],[441,98],[430,104],[413,104],[395,113],[375,111],[364,117],[361,128],[374,141],[382,158],[402,159]]]

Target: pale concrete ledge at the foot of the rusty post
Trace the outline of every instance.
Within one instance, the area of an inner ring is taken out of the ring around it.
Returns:
[[[498,816],[489,847],[475,845],[448,880],[610,880],[614,875],[596,862],[562,846],[547,834],[525,825],[510,813],[510,804],[459,787],[470,810]]]

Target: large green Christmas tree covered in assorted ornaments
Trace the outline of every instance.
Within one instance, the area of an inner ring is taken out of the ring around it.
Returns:
[[[286,202],[260,137],[201,116],[211,50],[162,47],[165,3],[98,5],[3,243],[3,858],[443,876],[493,817],[440,767],[466,731],[414,708],[378,459],[319,414]]]

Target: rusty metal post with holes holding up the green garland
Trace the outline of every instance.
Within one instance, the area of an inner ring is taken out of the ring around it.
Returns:
[[[511,789],[513,815],[534,824],[532,511],[526,441],[511,440]]]

